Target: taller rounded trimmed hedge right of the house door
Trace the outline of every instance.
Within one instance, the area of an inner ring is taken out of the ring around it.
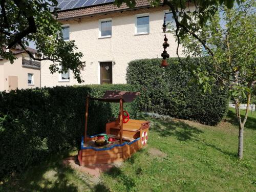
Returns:
[[[227,112],[227,91],[216,85],[211,93],[201,95],[195,84],[190,84],[191,64],[208,66],[208,58],[169,58],[169,66],[160,67],[161,59],[131,61],[127,69],[127,83],[141,92],[140,111],[154,112],[201,123],[216,125]],[[210,69],[209,69],[210,70]]]

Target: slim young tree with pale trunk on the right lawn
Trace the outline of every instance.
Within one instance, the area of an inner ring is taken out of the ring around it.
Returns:
[[[236,117],[239,124],[238,157],[243,158],[243,133],[246,123],[251,94],[256,84],[256,15],[253,0],[246,1],[232,9],[220,7],[210,17],[197,35],[211,50],[214,71],[207,73],[204,66],[193,69],[196,80],[204,91],[218,81],[227,89],[236,105]],[[181,44],[187,55],[201,56],[202,46],[191,35],[185,35]],[[207,50],[203,54],[208,54]],[[240,103],[247,100],[245,117],[241,118]]]

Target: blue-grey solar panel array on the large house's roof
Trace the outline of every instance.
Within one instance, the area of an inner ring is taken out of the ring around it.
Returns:
[[[112,3],[114,0],[57,0],[60,11]]]

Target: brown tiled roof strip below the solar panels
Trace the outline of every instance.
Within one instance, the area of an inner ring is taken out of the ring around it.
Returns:
[[[95,1],[95,0],[94,0]],[[162,1],[161,1],[162,2]],[[113,3],[109,4],[101,4],[95,6],[88,6],[88,7],[80,7],[79,9],[71,9],[71,10],[64,10],[58,11],[58,20],[65,20],[71,18],[79,18],[83,16],[92,16],[104,13],[111,13],[111,12],[119,12],[119,11],[128,11],[133,9],[142,9],[151,7],[150,2],[147,0],[137,0],[135,8],[129,8],[126,4],[122,4],[120,8]]]

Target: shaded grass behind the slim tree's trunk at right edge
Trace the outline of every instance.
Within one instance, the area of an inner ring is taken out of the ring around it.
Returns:
[[[250,115],[250,113],[251,112],[249,112],[249,115]],[[254,112],[254,114],[255,114],[255,112]],[[248,115],[246,123],[245,123],[245,128],[256,130],[256,115],[255,115],[255,118],[250,117],[249,115]],[[241,118],[244,119],[244,115],[241,114]],[[226,121],[238,126],[236,113],[231,110],[228,110]]]

